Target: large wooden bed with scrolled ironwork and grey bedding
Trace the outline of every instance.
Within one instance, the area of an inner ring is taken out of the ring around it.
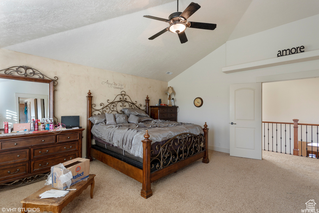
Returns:
[[[107,100],[107,103],[100,103],[99,105],[92,103],[93,96],[90,90],[86,97],[88,118],[86,157],[90,161],[95,158],[142,183],[140,193],[142,197],[149,198],[152,196],[152,182],[201,158],[203,158],[203,163],[209,163],[206,122],[204,128],[199,126],[200,130],[196,127],[198,125],[192,127],[194,130],[191,129],[190,124],[153,119],[145,122],[106,125],[106,123],[109,123],[109,119],[104,123],[98,123],[94,119],[103,116],[112,117],[112,114],[115,114],[118,118],[124,112],[140,112],[142,110],[148,116],[149,97],[146,97],[145,105],[137,104],[136,101],[133,102],[125,91],[116,95],[113,101]],[[131,115],[128,117],[131,118]],[[139,118],[138,121],[140,120]],[[110,129],[116,129],[117,132],[111,132]],[[182,133],[177,131],[177,134],[172,135],[171,131],[173,132],[173,129],[178,129],[178,131],[181,129],[187,130],[183,130]],[[105,132],[101,132],[102,130]],[[169,131],[169,133],[160,131]],[[125,137],[123,136],[125,140],[121,138],[122,142],[120,144],[116,142],[118,140],[115,140],[119,135],[125,135]],[[162,138],[159,139],[159,135],[162,135]],[[113,145],[113,142],[115,145]],[[136,151],[137,149],[139,151]]]

